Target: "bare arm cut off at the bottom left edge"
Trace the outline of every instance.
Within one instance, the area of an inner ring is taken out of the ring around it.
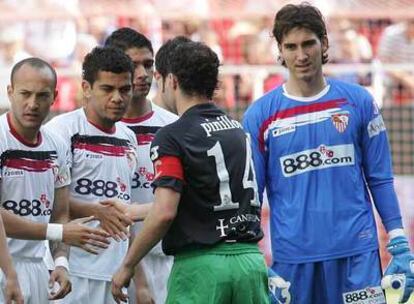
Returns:
[[[4,296],[3,300],[6,303],[23,304],[23,295],[20,290],[19,281],[17,279],[17,273],[13,266],[13,260],[10,256],[7,241],[6,233],[4,231],[3,221],[0,216],[0,268],[3,270],[4,275],[6,276],[6,285],[4,287]]]

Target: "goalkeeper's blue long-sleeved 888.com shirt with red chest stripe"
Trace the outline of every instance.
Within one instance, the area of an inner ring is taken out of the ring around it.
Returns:
[[[387,231],[402,227],[385,125],[361,86],[328,79],[313,97],[280,86],[244,116],[273,259],[303,263],[378,248],[370,194]]]

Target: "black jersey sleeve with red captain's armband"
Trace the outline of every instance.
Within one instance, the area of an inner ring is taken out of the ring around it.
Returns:
[[[181,160],[182,150],[177,138],[164,127],[157,132],[151,144],[151,160],[154,164],[152,186],[171,188],[181,193],[184,186],[184,170]]]

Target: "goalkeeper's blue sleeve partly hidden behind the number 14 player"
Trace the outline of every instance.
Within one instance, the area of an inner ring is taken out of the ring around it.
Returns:
[[[263,203],[263,191],[266,176],[266,151],[264,145],[260,144],[261,118],[257,113],[258,107],[250,107],[243,117],[243,129],[250,139],[254,169],[256,172],[257,188],[260,203]]]

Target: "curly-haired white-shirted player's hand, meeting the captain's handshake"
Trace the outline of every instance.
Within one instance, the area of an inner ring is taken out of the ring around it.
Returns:
[[[128,238],[128,226],[134,222],[116,207],[117,204],[110,200],[97,204],[95,216],[101,222],[101,227],[120,241]]]

